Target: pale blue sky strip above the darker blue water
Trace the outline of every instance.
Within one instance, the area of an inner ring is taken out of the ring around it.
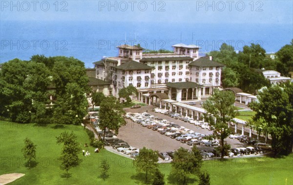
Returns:
[[[35,4],[0,0],[0,4],[1,21],[293,24],[293,0],[39,0]]]

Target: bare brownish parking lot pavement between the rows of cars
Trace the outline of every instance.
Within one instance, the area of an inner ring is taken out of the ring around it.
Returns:
[[[152,105],[143,106],[141,108],[136,109],[130,109],[126,108],[125,112],[131,112],[131,113],[142,113],[142,112],[148,112],[149,114],[152,114],[158,118],[163,118],[167,120],[168,122],[179,124],[180,126],[184,126],[190,130],[193,130],[195,132],[209,135],[212,133],[212,131],[208,129],[203,129],[200,126],[186,123],[181,120],[176,120],[174,118],[171,118],[167,115],[163,115],[161,113],[152,112],[151,109],[154,108]],[[179,147],[184,147],[189,149],[190,146],[188,144],[183,144],[180,141],[176,141],[175,139],[171,139],[170,137],[165,136],[164,134],[160,134],[157,131],[154,131],[152,129],[149,129],[147,127],[143,127],[141,124],[132,122],[130,119],[126,119],[127,124],[126,126],[123,126],[119,129],[118,138],[126,141],[129,145],[142,148],[147,147],[151,148],[153,150],[158,151],[174,151],[178,149]],[[231,147],[243,147],[246,144],[239,142],[236,139],[230,139],[227,138],[226,141],[231,144]],[[199,146],[199,148],[206,148],[204,146]]]

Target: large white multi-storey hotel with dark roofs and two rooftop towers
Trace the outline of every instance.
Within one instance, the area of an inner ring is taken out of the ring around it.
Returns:
[[[221,63],[198,56],[199,46],[175,44],[174,53],[143,54],[139,46],[118,46],[117,57],[94,62],[96,78],[110,82],[108,94],[118,97],[121,88],[133,85],[139,101],[158,99],[190,102],[209,96],[221,85]]]

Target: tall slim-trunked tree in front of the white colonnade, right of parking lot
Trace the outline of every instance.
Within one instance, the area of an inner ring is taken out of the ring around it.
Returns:
[[[203,104],[207,111],[205,120],[214,128],[214,137],[220,140],[221,159],[225,154],[225,139],[230,134],[228,124],[237,114],[234,102],[235,96],[232,92],[214,89],[213,95]]]

